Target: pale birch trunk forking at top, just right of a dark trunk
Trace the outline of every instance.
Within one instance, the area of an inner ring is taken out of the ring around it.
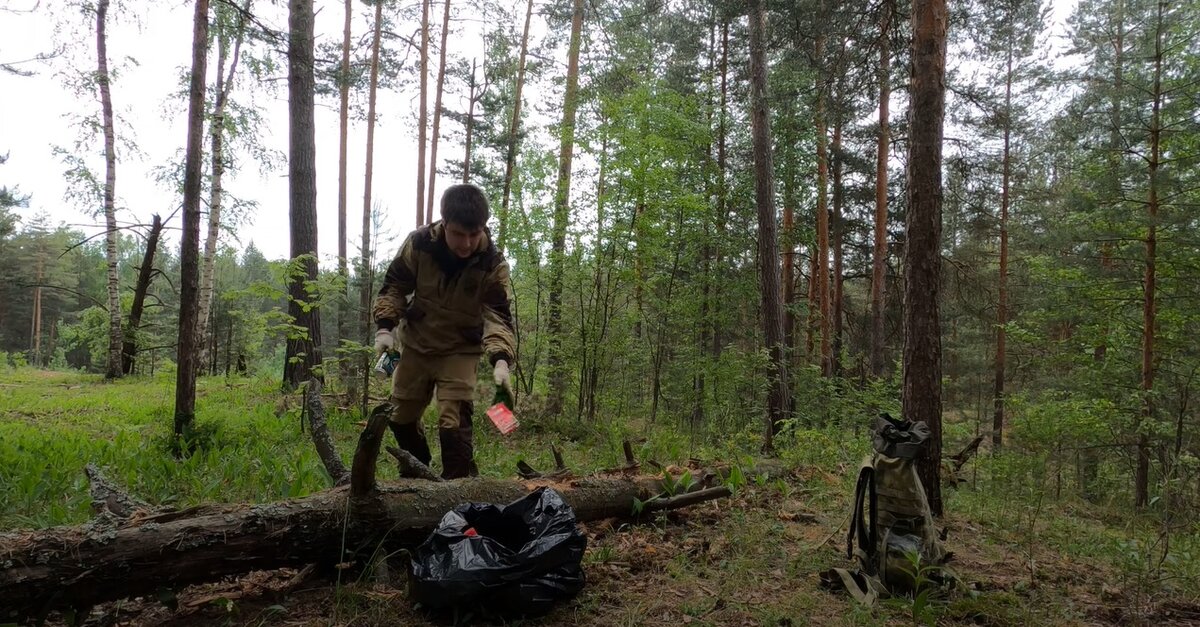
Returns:
[[[216,12],[222,11],[221,5],[217,5]],[[214,291],[212,286],[215,282],[215,274],[212,267],[216,263],[217,256],[217,238],[221,234],[221,210],[222,210],[222,196],[223,187],[222,180],[224,178],[226,159],[224,159],[224,130],[226,130],[226,104],[229,100],[229,92],[233,90],[234,76],[238,72],[238,59],[241,55],[241,42],[245,34],[245,20],[241,17],[250,11],[250,1],[245,2],[241,7],[241,13],[238,17],[238,31],[234,37],[233,44],[233,60],[229,62],[229,73],[226,74],[226,61],[229,59],[229,36],[224,31],[224,28],[217,22],[220,32],[217,32],[217,76],[216,84],[216,97],[212,106],[212,120],[209,123],[209,141],[212,147],[211,154],[211,189],[209,191],[209,231],[204,240],[204,257],[200,261],[200,311],[196,318],[196,338],[197,341],[204,346],[199,357],[199,368],[203,370],[205,364],[209,363],[210,357],[212,359],[216,356],[210,354],[208,345],[204,344],[204,339],[208,336],[209,330],[209,314],[212,310],[212,298]]]

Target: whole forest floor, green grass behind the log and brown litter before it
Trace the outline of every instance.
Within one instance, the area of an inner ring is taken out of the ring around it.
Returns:
[[[166,444],[172,383],[102,383],[92,376],[0,370],[0,530],[86,520],[83,466],[89,461],[154,504],[265,502],[328,485],[312,444],[298,429],[295,410],[281,405],[266,381],[202,380],[198,413],[208,442],[176,461]],[[356,420],[335,413],[331,430],[348,458]],[[514,462],[522,456],[535,467],[551,467],[551,442],[580,472],[617,466],[619,442],[631,435],[641,436],[640,459],[752,462],[749,437],[707,447],[655,425],[526,424],[520,437],[503,440],[476,431],[481,472],[497,477],[515,476]],[[1036,498],[988,494],[971,484],[949,491],[942,524],[955,554],[950,566],[965,591],[935,601],[928,613],[907,598],[864,608],[823,590],[817,573],[847,566],[845,524],[853,474],[865,452],[865,443],[841,446],[830,440],[836,437],[826,431],[794,438],[797,448],[781,450],[786,470],[751,478],[731,498],[644,524],[587,527],[584,590],[548,616],[508,623],[1200,623],[1195,530],[1171,538],[1170,559],[1159,559],[1162,537],[1148,522],[1051,497],[1052,490],[1038,491]],[[864,440],[848,431],[841,437]],[[382,577],[312,577],[282,590],[294,574],[259,572],[192,586],[178,593],[174,609],[158,599],[110,603],[96,608],[86,623],[494,623],[414,610],[403,583]]]

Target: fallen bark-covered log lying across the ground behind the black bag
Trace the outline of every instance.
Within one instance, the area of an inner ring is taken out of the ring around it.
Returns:
[[[378,446],[378,438],[367,440]],[[126,522],[103,516],[77,527],[4,533],[0,622],[36,620],[52,609],[85,611],[256,569],[364,566],[380,544],[389,551],[419,544],[460,503],[506,503],[540,485],[558,490],[581,521],[630,518],[635,498],[662,492],[654,477],[401,480],[361,496],[340,486],[280,503],[208,506]]]

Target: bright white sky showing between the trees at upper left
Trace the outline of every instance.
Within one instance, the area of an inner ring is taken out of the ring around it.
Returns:
[[[110,14],[108,34],[108,56],[110,66],[119,64],[124,56],[132,56],[137,65],[130,65],[113,85],[113,106],[116,115],[127,125],[116,127],[118,137],[128,137],[145,154],[145,159],[131,157],[119,149],[116,171],[116,195],[119,222],[148,223],[154,213],[163,217],[169,215],[181,201],[163,185],[155,183],[151,171],[155,166],[175,159],[176,151],[186,143],[186,102],[172,101],[172,94],[180,88],[176,77],[191,65],[192,13],[194,5],[186,0],[115,0],[124,6],[136,7],[137,23],[126,16],[114,20]],[[12,62],[32,58],[48,52],[59,37],[54,34],[53,19],[47,8],[60,12],[62,0],[43,0],[38,11],[32,13],[5,12],[34,6],[35,0],[0,0],[0,62]],[[438,2],[440,5],[440,2]],[[341,41],[342,2],[330,0],[317,1],[317,41]],[[355,2],[355,20],[353,37],[370,29],[370,24],[360,13],[362,5]],[[282,19],[283,10],[275,26],[286,28]],[[431,11],[431,22],[440,22],[440,6]],[[79,18],[80,22],[83,18]],[[464,25],[472,28],[470,25]],[[409,32],[407,26],[398,29]],[[413,25],[415,31],[415,24]],[[94,50],[94,32],[84,30],[90,38],[73,46]],[[456,43],[457,41],[457,43]],[[451,52],[462,53],[464,46],[479,46],[479,37],[451,36]],[[436,44],[437,42],[434,42]],[[455,49],[457,47],[457,49]],[[94,52],[88,53],[94,58]],[[212,76],[216,65],[215,52],[210,53],[209,70]],[[432,55],[431,55],[432,56]],[[94,62],[94,61],[92,61]],[[7,153],[8,161],[0,166],[0,185],[19,186],[22,193],[31,195],[29,209],[19,210],[24,217],[38,213],[48,213],[53,222],[65,222],[72,226],[84,226],[88,233],[98,231],[97,220],[86,208],[76,207],[64,198],[66,183],[62,179],[65,166],[52,154],[52,147],[72,147],[77,132],[68,125],[66,114],[95,112],[98,118],[100,102],[95,98],[77,98],[54,70],[42,64],[23,64],[19,67],[36,72],[32,77],[18,77],[0,72],[0,155]],[[436,85],[437,59],[431,59],[430,91]],[[240,85],[234,97],[245,98],[248,92],[246,74],[239,72]],[[264,143],[287,154],[287,89],[284,84],[286,67],[280,70],[280,89],[274,97],[258,94],[259,103],[266,108],[268,123],[262,130]],[[211,83],[210,83],[211,86]],[[449,89],[449,83],[448,83]],[[415,150],[415,86],[408,94],[380,90],[378,113],[380,121],[376,126],[374,179],[372,198],[388,208],[383,232],[392,238],[400,238],[414,227],[416,197],[416,150]],[[269,101],[266,98],[270,98]],[[364,98],[365,100],[365,98]],[[456,95],[446,95],[445,106],[460,107]],[[433,98],[430,98],[431,125]],[[164,118],[167,108],[180,112]],[[338,120],[336,102],[318,98],[317,107],[317,214],[319,251],[323,259],[330,259],[337,252],[337,148]],[[120,121],[120,120],[119,120]],[[132,125],[132,126],[131,126]],[[442,119],[443,137],[455,126],[449,119]],[[461,133],[460,133],[461,135]],[[364,160],[366,155],[366,124],[352,120],[348,149],[349,190],[348,190],[348,246],[350,256],[358,250],[362,215]],[[205,151],[208,151],[205,138]],[[458,142],[443,139],[438,147],[439,162],[448,159],[461,160],[462,145]],[[100,177],[103,177],[103,144],[97,136],[95,156],[90,163]],[[208,159],[208,156],[205,156]],[[426,166],[427,167],[427,166]],[[455,181],[439,174],[434,198],[440,198],[442,191]],[[263,251],[268,258],[286,258],[289,255],[288,239],[288,183],[287,168],[282,165],[274,173],[262,177],[253,165],[244,163],[242,168],[226,178],[224,186],[232,193],[258,201],[259,208],[245,225],[238,228],[238,241],[232,241],[226,234],[222,241],[241,249],[248,241]],[[434,207],[434,216],[437,207]],[[179,217],[172,222],[179,228]],[[202,226],[202,228],[204,228]],[[172,235],[169,245],[178,246],[178,231]],[[202,234],[203,241],[203,234]],[[203,244],[202,244],[203,246]],[[389,256],[395,243],[380,246],[379,255]],[[323,262],[324,265],[324,262]]]

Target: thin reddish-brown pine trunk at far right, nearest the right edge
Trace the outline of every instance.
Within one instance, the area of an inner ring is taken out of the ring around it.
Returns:
[[[1146,198],[1146,277],[1144,282],[1141,326],[1141,428],[1138,429],[1138,471],[1134,477],[1134,506],[1145,508],[1150,503],[1150,437],[1146,430],[1154,419],[1154,263],[1158,256],[1158,168],[1162,165],[1162,108],[1163,108],[1163,7],[1158,2],[1154,30],[1154,86],[1150,113],[1150,192]]]

